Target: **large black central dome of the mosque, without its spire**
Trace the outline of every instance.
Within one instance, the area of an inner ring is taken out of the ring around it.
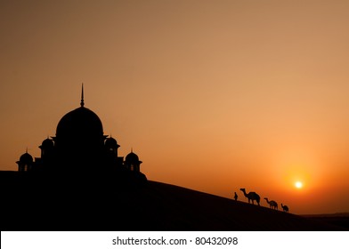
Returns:
[[[61,118],[57,125],[57,138],[87,138],[103,135],[101,119],[90,109],[76,108]]]

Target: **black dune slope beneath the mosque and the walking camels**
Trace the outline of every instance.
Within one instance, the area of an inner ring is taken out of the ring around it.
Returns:
[[[154,181],[148,181],[145,186],[114,184],[111,181],[94,181],[89,185],[61,181],[57,186],[58,182],[37,182],[28,184],[27,188],[22,184],[19,188],[7,184],[6,194],[2,195],[1,229],[344,229],[291,213]]]

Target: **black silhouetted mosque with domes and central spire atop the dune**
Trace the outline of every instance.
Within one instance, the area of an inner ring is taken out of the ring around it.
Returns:
[[[118,156],[119,147],[118,141],[104,135],[99,116],[85,108],[82,85],[80,107],[61,117],[56,136],[47,137],[39,146],[41,157],[33,159],[27,149],[16,163],[19,173],[44,173],[60,179],[114,175],[118,181],[146,182],[142,161],[133,149],[124,160]]]

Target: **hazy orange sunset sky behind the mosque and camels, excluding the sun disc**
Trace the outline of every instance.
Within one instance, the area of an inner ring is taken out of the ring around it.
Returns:
[[[1,1],[0,169],[27,147],[40,157],[84,83],[85,107],[150,180],[348,212],[348,12],[345,0]]]

